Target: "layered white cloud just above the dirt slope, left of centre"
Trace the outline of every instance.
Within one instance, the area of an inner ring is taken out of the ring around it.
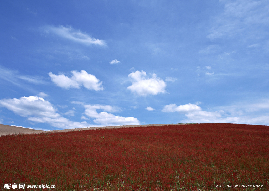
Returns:
[[[94,123],[101,124],[103,126],[113,126],[113,125],[139,125],[140,121],[134,117],[122,117],[116,116],[108,112],[118,112],[119,108],[112,107],[110,105],[90,105],[81,102],[73,102],[83,105],[85,108],[84,114],[89,118],[93,118]],[[98,113],[96,110],[101,109],[102,112]]]

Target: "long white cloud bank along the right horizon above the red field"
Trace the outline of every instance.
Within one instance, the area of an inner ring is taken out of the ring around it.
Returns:
[[[215,108],[217,111],[203,111],[195,104],[176,104],[165,105],[162,112],[179,112],[185,114],[186,119],[180,123],[242,123],[269,125],[269,115],[264,111],[269,108],[269,101],[258,102],[255,104],[232,105]],[[263,111],[262,115],[254,112]],[[255,116],[256,115],[256,116]],[[259,115],[259,116],[257,116]]]

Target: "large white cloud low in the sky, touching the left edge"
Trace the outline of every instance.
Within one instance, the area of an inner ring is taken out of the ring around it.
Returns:
[[[31,122],[48,123],[49,125],[60,129],[97,127],[100,125],[91,125],[87,122],[73,122],[63,118],[57,113],[57,109],[53,105],[36,96],[21,97],[19,99],[1,99],[0,105],[15,114],[27,117]]]

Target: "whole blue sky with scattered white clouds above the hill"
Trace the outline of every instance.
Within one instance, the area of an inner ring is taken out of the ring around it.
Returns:
[[[0,123],[269,125],[269,2],[0,2]]]

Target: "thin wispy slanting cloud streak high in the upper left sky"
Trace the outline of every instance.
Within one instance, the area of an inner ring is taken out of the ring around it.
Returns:
[[[100,45],[100,46],[105,46],[106,43],[104,40],[99,40],[99,39],[95,39],[91,36],[89,36],[86,33],[83,33],[80,30],[74,30],[71,26],[58,26],[58,27],[54,27],[54,26],[47,26],[45,27],[46,31],[49,31],[53,34],[56,34],[62,38],[66,38],[72,41],[75,41],[77,43],[81,43],[84,45]]]

